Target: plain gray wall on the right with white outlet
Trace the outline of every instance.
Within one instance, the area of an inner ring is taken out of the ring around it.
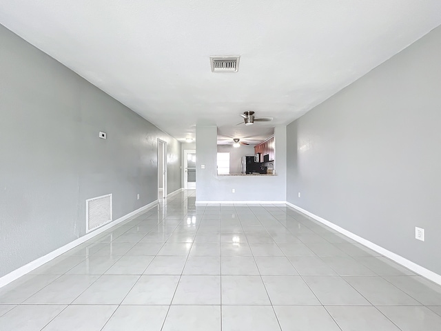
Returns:
[[[436,28],[287,130],[287,201],[438,274],[440,59]]]

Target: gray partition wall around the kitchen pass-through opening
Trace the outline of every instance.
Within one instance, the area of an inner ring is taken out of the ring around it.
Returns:
[[[217,128],[196,126],[196,202],[286,201],[286,132],[286,126],[274,128],[276,176],[218,176]]]

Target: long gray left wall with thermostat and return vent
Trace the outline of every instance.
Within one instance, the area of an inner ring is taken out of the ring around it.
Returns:
[[[181,144],[3,26],[0,45],[1,277],[83,236],[86,199],[113,193],[114,219],[155,201],[158,138],[181,188]]]

